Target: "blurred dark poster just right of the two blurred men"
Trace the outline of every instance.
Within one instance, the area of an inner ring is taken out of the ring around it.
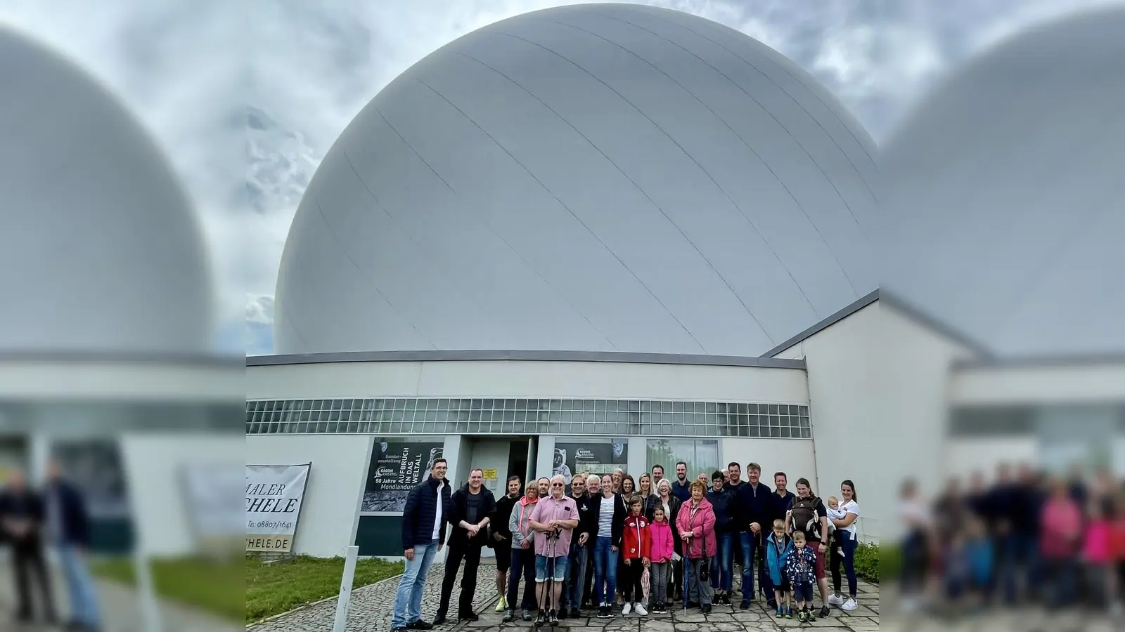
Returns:
[[[82,493],[93,518],[129,516],[128,487],[122,451],[114,439],[54,441],[52,454]]]

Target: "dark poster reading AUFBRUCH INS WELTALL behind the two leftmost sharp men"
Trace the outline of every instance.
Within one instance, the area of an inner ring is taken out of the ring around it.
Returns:
[[[363,487],[363,512],[402,512],[406,496],[430,476],[444,442],[377,441]]]

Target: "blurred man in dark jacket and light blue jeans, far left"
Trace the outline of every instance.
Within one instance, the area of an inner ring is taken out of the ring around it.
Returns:
[[[48,541],[58,554],[70,596],[68,629],[98,630],[101,628],[98,593],[86,563],[90,548],[90,515],[82,493],[63,476],[57,460],[47,464],[44,505]]]

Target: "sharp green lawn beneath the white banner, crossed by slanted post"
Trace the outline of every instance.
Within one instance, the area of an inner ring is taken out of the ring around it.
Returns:
[[[297,606],[340,594],[344,572],[343,558],[309,558],[299,556],[289,561],[264,565],[246,558],[246,623],[253,623]],[[352,589],[403,572],[403,562],[359,560]]]

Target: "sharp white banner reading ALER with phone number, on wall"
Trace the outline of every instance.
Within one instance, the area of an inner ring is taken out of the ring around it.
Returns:
[[[292,550],[310,466],[246,466],[248,551]]]

